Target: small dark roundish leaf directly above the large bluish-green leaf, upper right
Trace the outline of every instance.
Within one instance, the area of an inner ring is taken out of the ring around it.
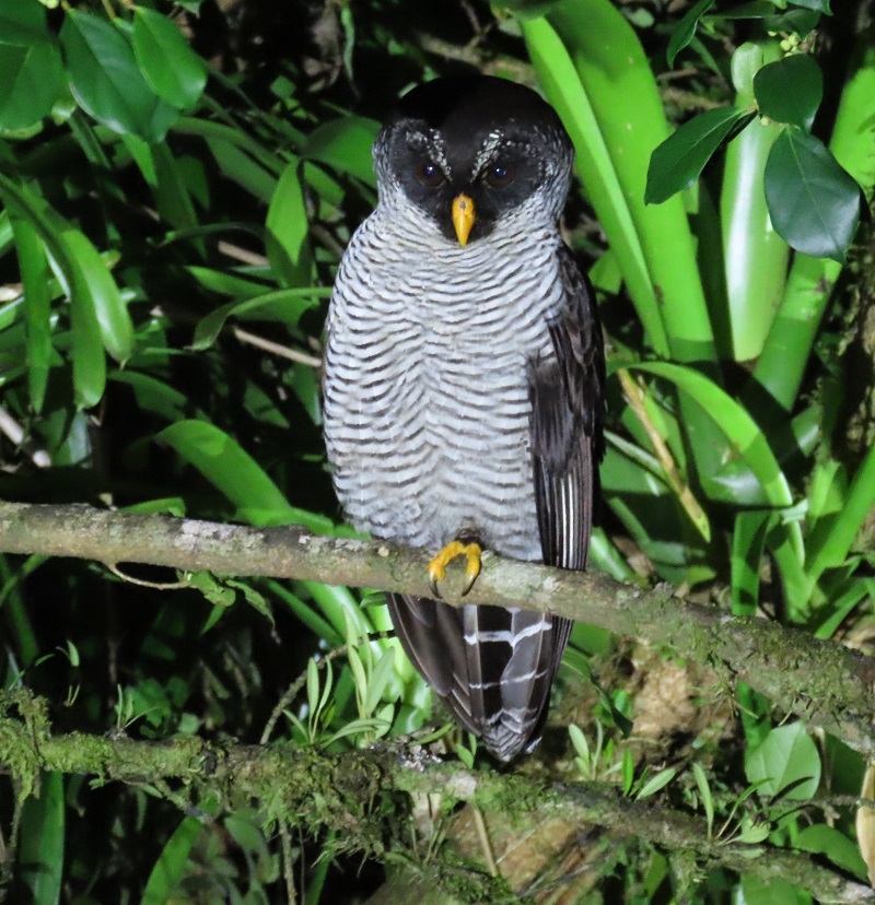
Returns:
[[[809,54],[794,54],[763,66],[754,77],[754,94],[761,114],[809,130],[824,97],[824,74]]]

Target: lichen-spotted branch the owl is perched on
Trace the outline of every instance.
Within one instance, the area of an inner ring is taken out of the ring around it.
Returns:
[[[249,528],[88,506],[3,503],[0,551],[429,596],[427,551],[315,536],[295,526]],[[465,600],[557,613],[665,645],[727,680],[743,679],[782,709],[832,732],[867,757],[875,755],[875,660],[800,631],[733,618],[672,595],[666,585],[642,591],[597,573],[487,556]]]

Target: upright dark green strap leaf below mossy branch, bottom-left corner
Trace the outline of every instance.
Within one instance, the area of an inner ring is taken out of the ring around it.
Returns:
[[[65,849],[63,774],[43,772],[39,797],[22,808],[16,873],[33,905],[57,905],[61,896]]]

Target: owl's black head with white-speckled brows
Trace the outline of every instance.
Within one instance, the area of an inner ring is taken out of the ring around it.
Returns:
[[[572,145],[530,89],[489,77],[439,79],[405,95],[377,138],[374,160],[381,181],[464,245],[536,196],[558,216]],[[459,231],[459,199],[475,213],[469,236]]]

